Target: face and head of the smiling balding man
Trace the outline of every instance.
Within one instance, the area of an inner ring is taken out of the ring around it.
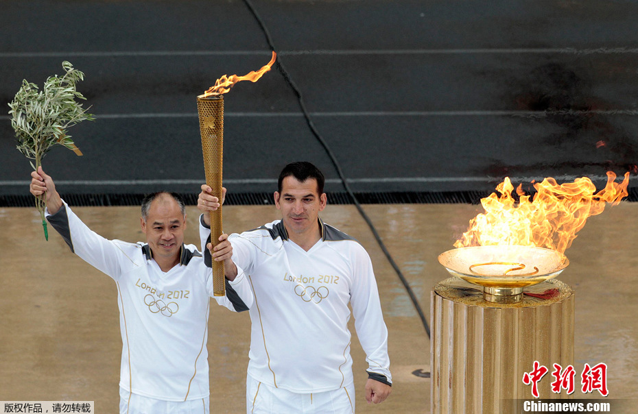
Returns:
[[[158,195],[151,203],[146,220],[141,219],[141,226],[153,256],[178,260],[184,242],[186,217],[173,197]]]

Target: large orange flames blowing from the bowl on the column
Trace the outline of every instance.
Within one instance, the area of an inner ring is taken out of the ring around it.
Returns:
[[[607,184],[598,193],[589,178],[559,185],[554,178],[534,184],[536,194],[530,201],[522,185],[517,188],[519,202],[512,196],[514,186],[508,177],[492,193],[481,199],[485,209],[470,221],[470,226],[454,247],[484,245],[524,245],[545,247],[565,253],[587,218],[599,215],[605,203],[619,204],[628,196],[629,173],[622,183],[607,172]]]

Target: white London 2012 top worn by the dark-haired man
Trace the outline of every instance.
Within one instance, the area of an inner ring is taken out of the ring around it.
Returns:
[[[350,236],[319,223],[322,239],[308,252],[288,239],[280,220],[228,238],[255,294],[248,374],[296,393],[350,385],[349,302],[370,378],[391,384],[370,257]]]

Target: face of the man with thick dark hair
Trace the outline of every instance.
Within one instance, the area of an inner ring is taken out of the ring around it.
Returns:
[[[274,202],[281,210],[286,230],[304,234],[318,229],[319,212],[325,208],[327,198],[318,193],[316,179],[300,182],[289,175],[281,182],[281,193],[275,191]]]

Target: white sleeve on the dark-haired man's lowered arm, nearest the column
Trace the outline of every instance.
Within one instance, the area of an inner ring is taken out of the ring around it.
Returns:
[[[370,256],[357,244],[352,254],[353,283],[351,305],[359,342],[366,352],[370,378],[386,377],[392,384],[390,357],[388,356],[388,328],[383,321],[377,280]],[[383,382],[383,381],[382,381]]]

